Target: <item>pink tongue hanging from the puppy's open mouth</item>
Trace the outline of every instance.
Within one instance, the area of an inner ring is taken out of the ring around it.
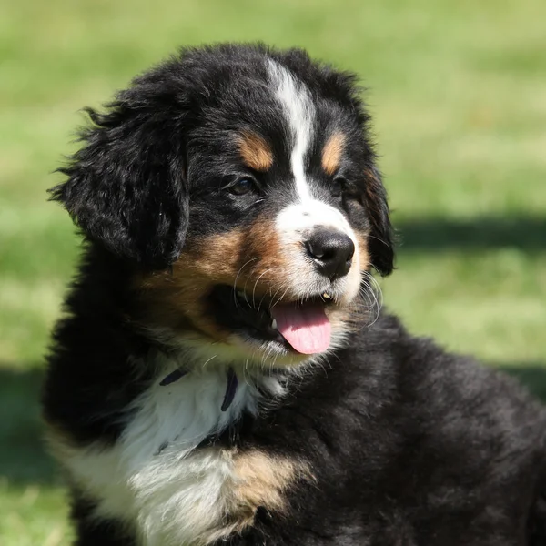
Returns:
[[[271,308],[278,331],[298,352],[312,355],[329,348],[331,325],[321,305],[278,305]]]

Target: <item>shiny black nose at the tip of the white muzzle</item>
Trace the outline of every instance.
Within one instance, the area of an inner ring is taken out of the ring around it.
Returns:
[[[344,233],[319,229],[308,238],[306,247],[319,271],[330,280],[349,273],[355,245]]]

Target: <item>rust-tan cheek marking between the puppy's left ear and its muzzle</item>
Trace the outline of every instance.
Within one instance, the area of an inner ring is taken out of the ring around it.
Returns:
[[[225,340],[230,335],[207,317],[203,297],[217,284],[237,285],[259,298],[297,297],[285,292],[287,272],[305,278],[309,267],[299,259],[298,243],[284,245],[275,222],[259,217],[250,227],[234,229],[207,238],[187,241],[187,247],[170,271],[160,271],[136,279],[149,313],[147,326],[175,331],[187,328],[187,320],[207,336]],[[237,282],[236,282],[237,279]]]

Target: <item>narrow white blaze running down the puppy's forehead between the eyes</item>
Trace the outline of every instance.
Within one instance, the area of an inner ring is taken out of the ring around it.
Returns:
[[[308,89],[297,82],[287,68],[268,59],[268,72],[275,86],[275,96],[282,106],[290,126],[292,153],[290,167],[296,180],[296,190],[302,201],[311,199],[305,175],[305,154],[313,137],[315,106]]]

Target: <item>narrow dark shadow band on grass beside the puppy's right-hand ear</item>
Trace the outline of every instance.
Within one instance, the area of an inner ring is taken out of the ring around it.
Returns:
[[[469,220],[425,218],[395,221],[400,250],[437,248],[546,248],[546,218],[475,217]]]

